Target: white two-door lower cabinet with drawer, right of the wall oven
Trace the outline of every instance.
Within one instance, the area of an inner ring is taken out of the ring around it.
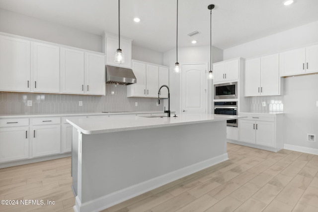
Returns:
[[[278,151],[284,144],[283,114],[240,113],[239,144]]]

